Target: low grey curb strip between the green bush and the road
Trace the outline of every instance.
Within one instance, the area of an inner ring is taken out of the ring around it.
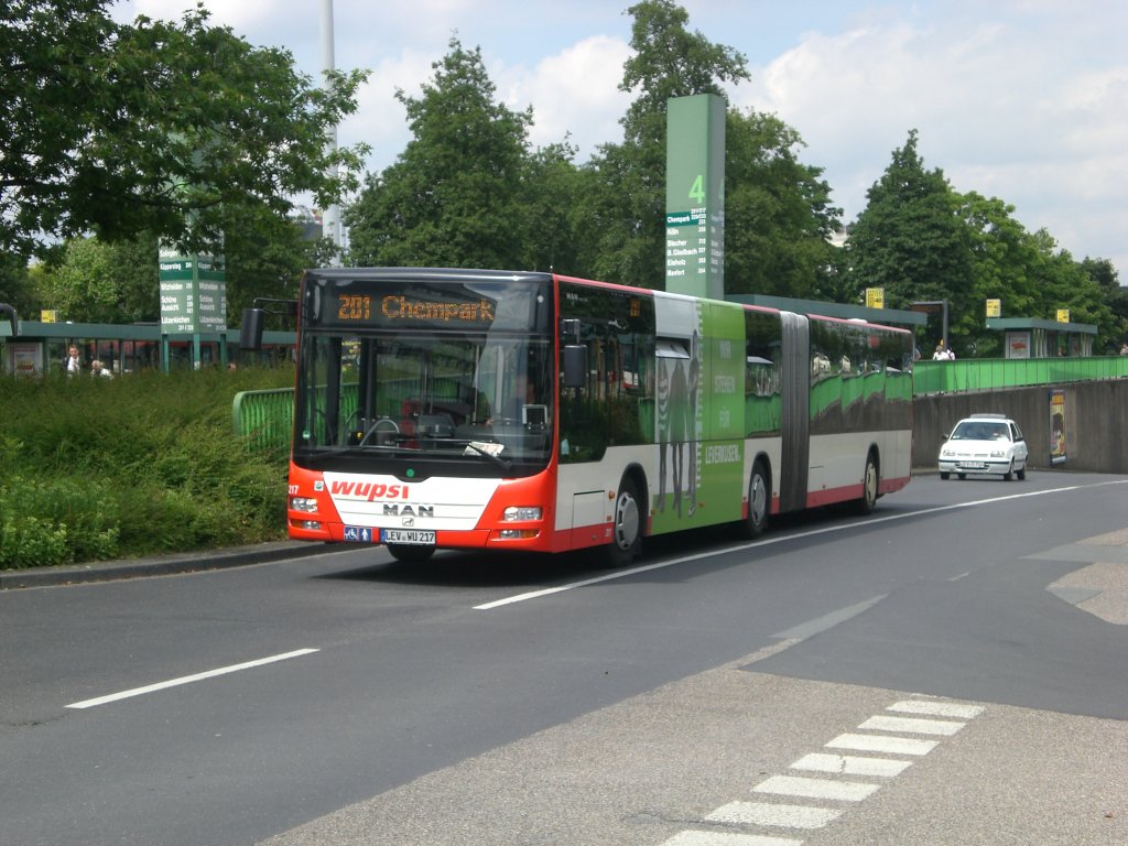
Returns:
[[[147,575],[174,575],[205,570],[222,570],[246,564],[305,558],[310,555],[355,549],[351,544],[318,544],[301,540],[280,540],[224,549],[201,549],[193,553],[155,555],[147,558],[99,561],[59,567],[28,567],[0,570],[0,590],[12,588],[52,588],[64,584],[89,584]]]

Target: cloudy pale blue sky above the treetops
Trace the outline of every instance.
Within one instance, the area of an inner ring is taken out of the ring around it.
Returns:
[[[205,0],[214,23],[323,67],[326,0]],[[584,161],[622,139],[618,91],[634,0],[332,0],[338,69],[371,71],[342,143],[395,161],[411,96],[457,36],[481,47],[497,96],[532,106],[535,144],[565,133]],[[179,18],[190,0],[122,0],[118,19]],[[734,47],[752,79],[742,109],[777,114],[807,143],[852,221],[910,129],[928,169],[997,196],[1075,258],[1111,259],[1128,284],[1128,3],[1120,0],[681,0],[689,28]]]

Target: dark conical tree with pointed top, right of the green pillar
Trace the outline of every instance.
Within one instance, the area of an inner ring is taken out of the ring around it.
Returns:
[[[916,130],[893,150],[866,200],[846,243],[855,289],[883,288],[895,308],[948,299],[951,314],[969,312],[971,266],[958,196],[940,168],[924,169]]]

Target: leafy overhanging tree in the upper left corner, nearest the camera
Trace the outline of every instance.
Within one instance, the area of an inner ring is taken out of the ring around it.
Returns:
[[[356,184],[364,148],[327,149],[367,73],[326,86],[288,51],[208,25],[106,15],[112,0],[8,0],[0,19],[0,250],[140,232],[219,252],[226,210],[284,218]],[[329,166],[338,166],[337,176]]]

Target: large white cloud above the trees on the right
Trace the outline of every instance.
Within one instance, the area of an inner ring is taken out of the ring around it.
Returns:
[[[826,168],[847,220],[917,129],[925,167],[957,191],[998,196],[1028,230],[1128,270],[1122,215],[1111,214],[1128,192],[1126,54],[1086,56],[1046,21],[982,17],[808,34],[737,102],[799,130],[803,160]]]

